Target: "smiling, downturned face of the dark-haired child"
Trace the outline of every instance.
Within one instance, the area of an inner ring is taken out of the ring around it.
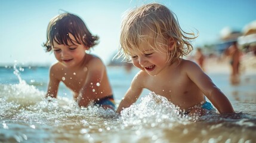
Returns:
[[[65,67],[75,67],[81,63],[85,57],[85,47],[76,42],[74,36],[69,33],[72,42],[68,41],[68,45],[61,44],[53,41],[53,50],[55,58]]]

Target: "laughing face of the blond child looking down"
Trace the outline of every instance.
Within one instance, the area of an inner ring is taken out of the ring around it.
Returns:
[[[155,51],[148,43],[140,45],[141,50],[131,51],[132,64],[148,74],[155,76],[168,66],[166,48]],[[166,49],[166,50],[165,50]]]

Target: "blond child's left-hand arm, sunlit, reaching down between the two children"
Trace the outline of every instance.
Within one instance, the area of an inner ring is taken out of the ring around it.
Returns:
[[[121,111],[124,110],[124,108],[128,108],[130,105],[132,105],[134,102],[138,100],[138,97],[140,97],[140,94],[143,91],[140,81],[141,80],[138,78],[138,76],[134,77],[131,86],[129,87],[127,93],[125,94],[125,97],[120,102],[118,110],[116,110],[116,113],[120,114]]]

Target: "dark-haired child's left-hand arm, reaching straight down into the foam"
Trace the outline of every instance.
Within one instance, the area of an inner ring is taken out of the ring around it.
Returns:
[[[60,85],[60,80],[55,77],[55,74],[57,74],[56,71],[57,70],[54,70],[54,66],[52,66],[50,69],[50,81],[48,83],[48,90],[45,97],[57,97],[58,85]]]

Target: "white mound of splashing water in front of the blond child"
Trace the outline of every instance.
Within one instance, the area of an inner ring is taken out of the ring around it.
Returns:
[[[153,127],[162,126],[165,123],[168,123],[168,126],[186,125],[192,119],[196,119],[196,117],[181,114],[179,107],[154,92],[141,98],[140,103],[132,104],[129,108],[121,111],[121,121],[125,126],[143,124]]]

